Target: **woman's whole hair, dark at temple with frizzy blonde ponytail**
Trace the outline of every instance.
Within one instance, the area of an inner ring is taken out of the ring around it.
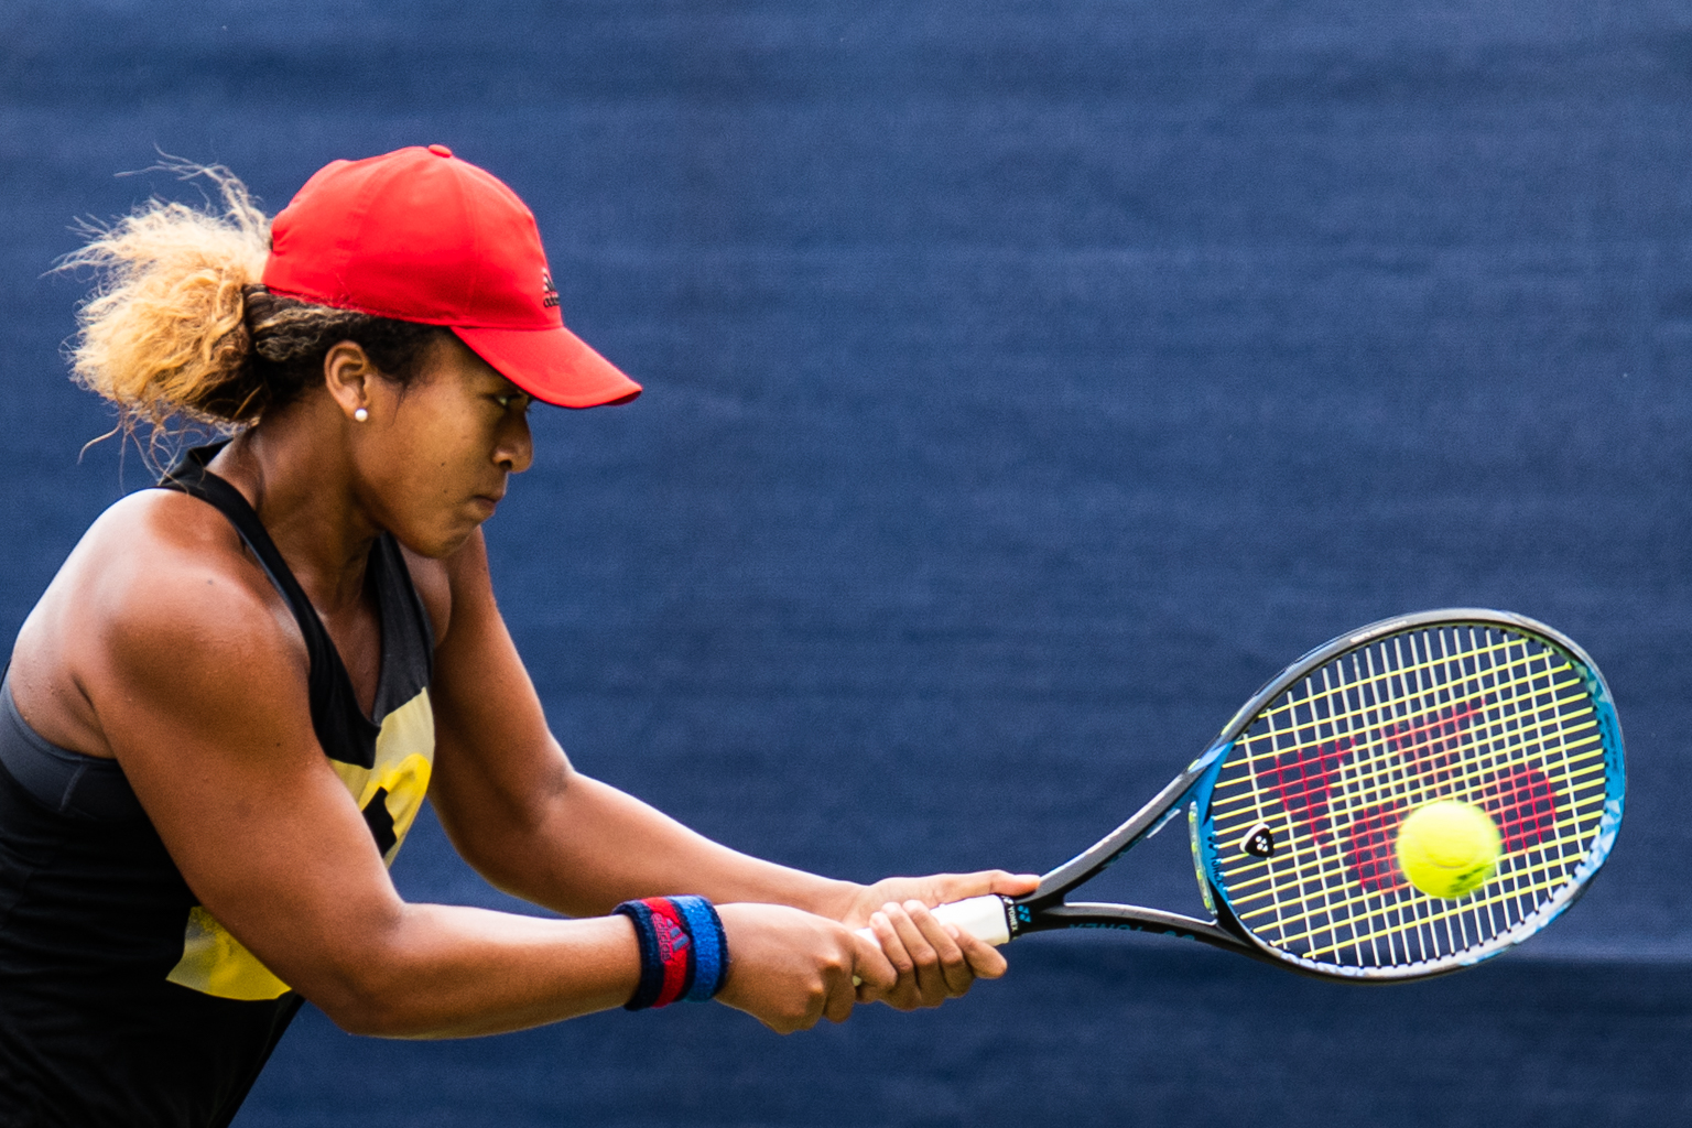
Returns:
[[[124,430],[173,421],[233,431],[323,379],[323,355],[355,342],[384,374],[409,381],[443,330],[271,294],[261,282],[271,220],[222,166],[161,166],[203,178],[203,208],[149,200],[59,262],[88,267],[95,291],[78,308],[71,374],[118,409]]]

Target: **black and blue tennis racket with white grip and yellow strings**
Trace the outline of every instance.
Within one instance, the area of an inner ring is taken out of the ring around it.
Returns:
[[[1437,976],[1548,925],[1621,827],[1621,726],[1597,666],[1499,611],[1386,619],[1313,649],[1132,819],[1027,896],[936,908],[990,944],[1052,928],[1162,932],[1342,979]],[[1497,827],[1492,876],[1460,898],[1404,878],[1398,827],[1460,800]],[[1069,901],[1186,813],[1208,920]]]

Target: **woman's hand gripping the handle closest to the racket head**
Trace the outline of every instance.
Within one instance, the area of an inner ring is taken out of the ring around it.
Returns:
[[[929,878],[887,878],[861,886],[841,920],[868,927],[895,977],[880,984],[860,974],[860,1003],[887,1003],[895,1010],[939,1006],[964,994],[976,979],[1005,974],[1005,957],[968,932],[941,923],[929,908],[983,893],[1022,896],[1039,884],[1034,874],[988,869]]]

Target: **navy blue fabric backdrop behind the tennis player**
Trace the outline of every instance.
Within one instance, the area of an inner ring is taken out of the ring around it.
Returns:
[[[1628,736],[1597,888],[1460,977],[1095,937],[787,1040],[308,1011],[242,1128],[1685,1121],[1685,3],[10,0],[0,44],[3,638],[146,479],[78,460],[71,222],[191,198],[113,176],[157,151],[276,210],[445,142],[648,387],[536,413],[506,616],[577,763],[707,834],[1042,869],[1293,656],[1435,605],[1567,629]],[[1117,890],[1191,906],[1176,839]],[[508,905],[430,819],[396,879]]]

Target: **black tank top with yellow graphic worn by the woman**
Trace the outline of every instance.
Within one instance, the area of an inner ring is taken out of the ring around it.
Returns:
[[[428,612],[382,534],[369,563],[382,668],[365,717],[259,516],[205,468],[213,453],[190,452],[159,485],[222,511],[288,600],[311,660],[311,726],[391,862],[435,756]],[[117,761],[44,741],[0,682],[0,1126],[222,1128],[299,1001],[198,905]]]

